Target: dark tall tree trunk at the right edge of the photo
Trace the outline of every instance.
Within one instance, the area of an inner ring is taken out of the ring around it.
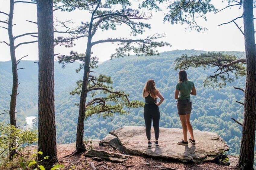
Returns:
[[[256,50],[254,39],[253,0],[244,0],[244,33],[247,76],[245,111],[238,167],[253,169],[256,122]]]

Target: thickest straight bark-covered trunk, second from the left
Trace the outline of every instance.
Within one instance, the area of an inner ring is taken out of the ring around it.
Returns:
[[[58,161],[54,113],[53,0],[37,0],[38,25],[38,160],[51,166]],[[49,156],[49,159],[43,159]]]

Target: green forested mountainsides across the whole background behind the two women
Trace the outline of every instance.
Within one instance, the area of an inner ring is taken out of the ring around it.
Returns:
[[[116,90],[123,90],[130,94],[131,100],[141,100],[142,89],[147,79],[154,79],[157,88],[165,97],[160,106],[160,126],[165,128],[181,128],[177,115],[174,89],[177,83],[177,73],[174,70],[174,60],[182,54],[200,54],[206,51],[175,50],[161,53],[159,56],[129,56],[105,61],[94,71],[95,74],[105,74],[112,77]],[[244,56],[243,52],[229,51],[226,54]],[[19,92],[17,100],[18,119],[24,119],[26,115],[37,114],[37,64],[34,61],[22,61],[20,67],[26,67],[19,71]],[[55,64],[55,105],[57,142],[70,143],[75,141],[76,124],[78,119],[79,102],[77,96],[71,96],[70,91],[75,87],[76,80],[81,78],[81,73],[75,73],[79,63],[72,63],[61,68]],[[222,89],[204,87],[203,80],[212,74],[215,69],[204,70],[190,69],[188,77],[194,81],[197,88],[197,96],[192,97],[193,110],[191,114],[192,125],[201,131],[213,131],[218,133],[230,146],[230,154],[238,154],[240,151],[241,126],[232,121],[231,117],[242,122],[243,107],[235,101],[243,101],[242,91],[235,90],[233,86],[244,87],[245,77],[229,83]],[[11,91],[11,63],[0,62],[0,109],[8,108],[9,94]],[[89,99],[88,99],[89,100]],[[7,115],[1,115],[1,120],[8,120]],[[20,123],[24,123],[20,121]],[[98,115],[85,121],[85,137],[101,139],[110,130],[124,126],[144,125],[143,108],[131,109],[127,115],[115,115],[103,119]],[[161,134],[160,138],[161,140]]]

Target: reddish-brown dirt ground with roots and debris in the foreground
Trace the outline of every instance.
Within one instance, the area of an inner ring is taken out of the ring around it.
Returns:
[[[114,150],[112,147],[101,147],[98,145],[99,140],[93,141],[93,148],[97,150],[105,150],[110,152],[120,153],[118,150]],[[66,155],[69,155],[75,150],[75,143],[72,144],[58,144],[58,158],[59,163],[65,165],[65,169],[75,169],[82,170],[88,169],[93,170],[91,168],[91,162],[94,162],[94,165],[103,164],[109,170],[163,170],[165,168],[176,169],[176,170],[222,170],[222,169],[238,169],[235,168],[236,162],[238,162],[238,158],[235,156],[229,156],[230,165],[222,166],[212,162],[204,162],[204,163],[182,163],[182,162],[173,162],[168,160],[159,160],[152,158],[144,158],[142,156],[133,156],[132,159],[124,162],[124,163],[114,163],[114,162],[98,162],[92,160],[91,157],[85,157],[84,154],[78,154],[75,156],[63,158]],[[129,165],[130,167],[126,167]],[[97,170],[106,170],[102,166],[96,166]]]

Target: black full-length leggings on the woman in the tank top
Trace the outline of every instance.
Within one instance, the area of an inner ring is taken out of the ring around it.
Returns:
[[[148,140],[150,140],[150,130],[151,130],[151,122],[153,119],[153,126],[155,130],[155,140],[158,140],[159,137],[159,120],[160,120],[160,112],[159,107],[156,104],[145,104],[144,105],[144,119],[146,125],[146,136]]]

